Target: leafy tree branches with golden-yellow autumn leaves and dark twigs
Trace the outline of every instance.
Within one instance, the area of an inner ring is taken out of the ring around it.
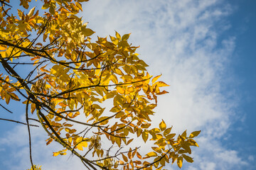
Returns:
[[[162,169],[174,162],[181,168],[183,160],[193,162],[189,154],[200,131],[176,135],[164,120],[151,127],[157,96],[168,93],[161,88],[169,85],[146,71],[130,34],[94,41],[95,32],[77,15],[84,1],[41,0],[38,8],[20,0],[15,8],[0,0],[0,96],[7,105],[14,100],[26,106],[31,169],[41,169],[33,165],[33,126],[46,131],[46,145],[63,146],[54,157],[71,152],[87,169]],[[132,147],[134,139],[151,150]]]

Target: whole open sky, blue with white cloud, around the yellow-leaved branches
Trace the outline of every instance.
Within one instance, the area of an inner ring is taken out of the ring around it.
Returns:
[[[95,0],[84,5],[80,15],[95,35],[132,33],[130,42],[141,45],[138,53],[149,72],[163,74],[171,85],[170,93],[159,98],[154,125],[164,118],[176,132],[202,130],[200,147],[193,149],[195,162],[183,169],[256,169],[255,8],[254,0]],[[12,111],[1,109],[1,118],[24,120],[19,106]],[[0,127],[0,169],[28,168],[26,126],[1,121]],[[44,140],[43,130],[35,129],[36,164],[83,168],[73,157],[51,157],[58,145],[46,147]]]

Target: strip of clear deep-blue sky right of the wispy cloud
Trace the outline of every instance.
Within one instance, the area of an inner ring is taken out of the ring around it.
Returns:
[[[235,36],[235,50],[233,60],[230,62],[230,71],[237,82],[233,87],[236,96],[239,98],[238,107],[235,111],[243,115],[242,120],[238,120],[230,128],[231,141],[225,145],[230,145],[233,149],[240,148],[243,155],[248,153],[256,154],[256,1],[228,1],[235,6],[235,11],[227,19],[232,28],[223,36]],[[232,85],[229,85],[232,87]],[[230,87],[230,88],[231,88]],[[238,130],[238,127],[242,128]],[[243,141],[243,142],[242,142]],[[242,145],[241,145],[242,144]]]

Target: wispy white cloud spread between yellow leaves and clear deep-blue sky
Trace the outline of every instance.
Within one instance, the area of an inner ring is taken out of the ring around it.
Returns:
[[[149,72],[163,74],[161,79],[171,85],[167,88],[169,94],[159,96],[154,124],[158,125],[164,118],[177,132],[185,128],[190,132],[203,130],[198,137],[200,147],[193,148],[195,162],[186,164],[188,169],[233,169],[241,162],[242,166],[246,165],[238,151],[226,149],[220,142],[235,116],[234,101],[221,94],[223,84],[227,83],[225,75],[229,74],[225,67],[235,48],[235,38],[221,42],[219,39],[220,34],[230,28],[229,23],[223,21],[232,12],[228,4],[219,0],[94,0],[84,7],[81,16],[89,21],[88,27],[95,30],[96,35],[114,35],[114,30],[132,33],[130,42],[141,45],[138,52],[149,64]],[[16,130],[23,135],[23,129]],[[9,135],[9,138],[2,139],[1,143],[15,136]],[[24,142],[27,140],[18,145],[23,146]],[[41,146],[45,146],[44,142],[36,143],[35,152],[39,152]],[[67,157],[52,158],[45,148],[43,155],[34,154],[44,169],[82,169],[79,160],[69,161],[67,165]],[[26,152],[22,155],[28,157],[28,151],[22,149],[21,152]],[[25,159],[21,155],[16,157]]]

